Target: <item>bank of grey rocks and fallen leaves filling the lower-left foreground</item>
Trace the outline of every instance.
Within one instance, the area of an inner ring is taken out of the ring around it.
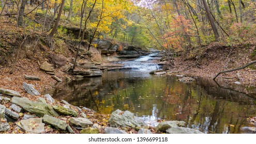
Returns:
[[[23,83],[23,88],[40,95],[31,84]],[[10,89],[0,88],[0,93],[0,133],[202,134],[185,128],[184,121],[163,121],[153,128],[129,111],[116,110],[109,117],[65,100],[56,101],[49,94],[33,101]]]

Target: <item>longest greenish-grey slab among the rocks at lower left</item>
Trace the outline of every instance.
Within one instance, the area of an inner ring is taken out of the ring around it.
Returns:
[[[11,102],[22,107],[24,111],[36,114],[39,117],[44,115],[59,116],[52,108],[50,104],[42,102],[34,102],[27,98],[13,97]]]

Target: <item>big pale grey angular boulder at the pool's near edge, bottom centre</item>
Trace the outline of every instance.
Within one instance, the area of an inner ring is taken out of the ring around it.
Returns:
[[[111,127],[141,127],[146,126],[146,123],[139,117],[134,116],[133,113],[125,111],[122,114],[121,110],[116,110],[113,112],[108,120]]]

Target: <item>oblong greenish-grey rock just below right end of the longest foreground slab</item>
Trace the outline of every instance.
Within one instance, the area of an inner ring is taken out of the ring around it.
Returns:
[[[44,123],[49,123],[49,124],[53,125],[55,128],[61,129],[61,130],[64,130],[64,131],[67,128],[66,121],[63,121],[61,119],[57,119],[57,118],[52,117],[52,116],[44,115],[43,116],[43,122]]]

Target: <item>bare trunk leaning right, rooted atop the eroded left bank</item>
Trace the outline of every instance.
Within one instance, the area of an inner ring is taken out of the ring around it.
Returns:
[[[59,8],[59,12],[58,12],[58,16],[57,16],[57,20],[54,24],[54,27],[52,29],[52,31],[50,32],[50,34],[48,35],[48,46],[53,49],[53,42],[52,42],[52,38],[53,38],[53,35],[55,33],[55,31],[57,30],[58,28],[58,22],[59,20],[61,19],[61,15],[62,15],[62,10],[63,10],[63,7],[64,7],[64,4],[65,4],[65,0],[62,0],[62,4],[61,4],[61,8]]]

